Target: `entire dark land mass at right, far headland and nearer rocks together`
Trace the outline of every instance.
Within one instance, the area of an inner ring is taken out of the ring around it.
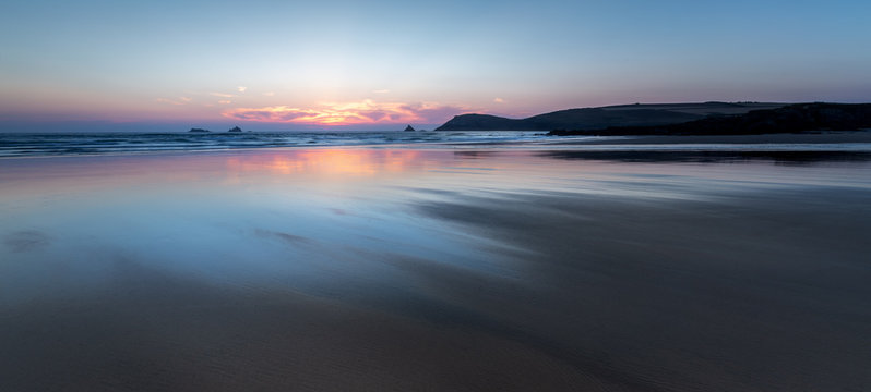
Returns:
[[[704,102],[568,109],[526,119],[456,115],[436,131],[549,131],[549,135],[762,135],[871,128],[871,103]]]

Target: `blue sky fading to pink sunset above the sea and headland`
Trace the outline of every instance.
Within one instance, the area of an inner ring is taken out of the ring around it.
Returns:
[[[867,0],[5,0],[0,125],[402,130],[635,102],[871,102],[868,15]]]

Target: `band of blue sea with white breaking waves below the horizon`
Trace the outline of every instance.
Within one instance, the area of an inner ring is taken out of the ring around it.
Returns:
[[[244,133],[0,133],[0,158],[148,154],[168,151],[220,151],[258,148],[523,148],[571,149],[583,151],[707,151],[728,152],[833,152],[837,155],[871,154],[867,139],[832,143],[730,142],[735,136],[716,140],[687,143],[647,143],[632,136],[548,136],[533,131],[463,131],[463,132],[244,132]],[[740,136],[738,136],[740,137]],[[799,140],[802,142],[802,140]]]

